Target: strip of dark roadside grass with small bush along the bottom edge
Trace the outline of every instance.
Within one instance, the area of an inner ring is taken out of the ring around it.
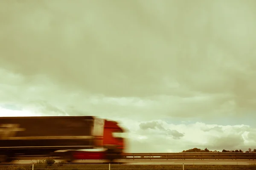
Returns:
[[[108,164],[64,164],[52,159],[37,161],[34,170],[109,170]],[[0,170],[32,170],[32,165],[0,165]],[[183,170],[182,165],[120,165],[111,170]],[[184,170],[256,170],[252,165],[184,165]]]

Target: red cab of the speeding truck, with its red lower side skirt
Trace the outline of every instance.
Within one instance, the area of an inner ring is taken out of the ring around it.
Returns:
[[[95,119],[93,125],[94,149],[69,150],[65,159],[74,160],[113,160],[121,159],[125,150],[126,131],[115,121]],[[95,150],[96,149],[96,150]],[[67,159],[68,158],[68,159]]]

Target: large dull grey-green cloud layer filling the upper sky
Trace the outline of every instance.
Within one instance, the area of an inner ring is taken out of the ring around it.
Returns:
[[[47,74],[70,89],[107,96],[189,95],[192,90],[250,100],[248,89],[235,83],[255,83],[250,56],[256,18],[246,10],[249,2],[233,8],[199,1],[189,8],[166,1],[154,8],[146,1],[103,3],[108,7],[81,1],[83,8],[70,2],[61,8],[56,2],[11,4],[2,6],[4,68],[27,76]],[[37,10],[27,10],[31,7]]]

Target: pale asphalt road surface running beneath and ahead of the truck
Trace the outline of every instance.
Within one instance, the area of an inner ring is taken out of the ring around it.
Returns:
[[[38,159],[39,160],[39,159]],[[33,162],[36,162],[37,160],[17,160],[14,161],[13,164],[32,164]],[[61,160],[55,160],[56,162]],[[75,163],[79,164],[86,164],[92,161],[76,161]],[[100,163],[102,161],[95,160],[93,163]],[[187,160],[180,160],[180,159],[170,159],[170,160],[120,160],[119,162],[125,162],[125,164],[221,164],[221,165],[250,165],[250,164],[256,164],[256,160],[232,160],[232,159],[226,159],[226,160],[215,160],[215,159],[205,159],[205,160],[193,160],[193,159],[187,159]],[[93,164],[92,163],[92,164]]]

